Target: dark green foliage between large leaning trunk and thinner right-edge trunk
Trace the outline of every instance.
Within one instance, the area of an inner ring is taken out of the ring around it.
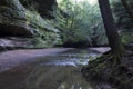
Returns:
[[[133,0],[127,0],[130,8],[133,10]],[[133,20],[120,1],[112,1],[112,9],[115,17],[115,22],[123,43],[133,41]]]

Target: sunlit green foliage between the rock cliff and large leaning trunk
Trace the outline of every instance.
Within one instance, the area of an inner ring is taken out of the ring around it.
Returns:
[[[99,11],[99,6],[91,6],[85,0],[82,2],[73,2],[71,0],[62,0],[59,8],[66,13],[64,18],[60,9],[57,10],[54,22],[61,29],[61,36],[64,43],[80,43],[93,46],[106,43],[106,37]],[[92,39],[98,36],[98,38]]]

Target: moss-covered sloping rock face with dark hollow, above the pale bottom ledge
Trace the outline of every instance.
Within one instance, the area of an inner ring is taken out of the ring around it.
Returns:
[[[19,0],[1,0],[0,36],[24,37],[31,39],[30,48],[42,48],[60,44],[59,32],[49,19],[43,19],[38,11],[28,9]]]

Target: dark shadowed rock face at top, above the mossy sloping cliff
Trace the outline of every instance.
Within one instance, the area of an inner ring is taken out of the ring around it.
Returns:
[[[41,17],[53,19],[53,11],[58,7],[55,0],[20,0],[20,2],[29,10],[38,10]]]

